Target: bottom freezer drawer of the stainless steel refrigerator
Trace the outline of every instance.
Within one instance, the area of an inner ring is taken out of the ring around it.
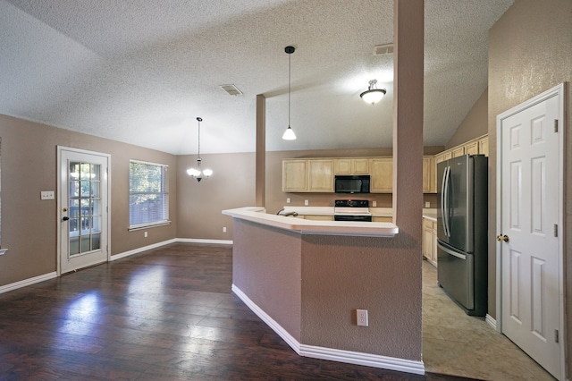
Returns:
[[[437,280],[451,299],[475,309],[475,257],[437,243]]]

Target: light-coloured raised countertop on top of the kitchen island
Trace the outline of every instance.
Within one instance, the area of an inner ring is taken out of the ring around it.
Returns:
[[[264,207],[226,209],[223,215],[302,234],[393,237],[400,232],[397,225],[386,222],[314,221],[267,214]]]

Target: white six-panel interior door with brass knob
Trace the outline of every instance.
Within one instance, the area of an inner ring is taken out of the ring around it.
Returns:
[[[544,93],[499,115],[497,135],[501,331],[559,379],[564,375],[565,338],[558,234],[562,96]]]

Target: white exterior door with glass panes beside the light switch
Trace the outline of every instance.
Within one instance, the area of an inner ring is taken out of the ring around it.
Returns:
[[[60,274],[108,259],[108,163],[104,154],[58,148]]]

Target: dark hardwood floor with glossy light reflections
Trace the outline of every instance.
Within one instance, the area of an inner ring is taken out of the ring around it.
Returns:
[[[299,357],[231,277],[230,246],[174,243],[0,294],[0,379],[463,379]]]

